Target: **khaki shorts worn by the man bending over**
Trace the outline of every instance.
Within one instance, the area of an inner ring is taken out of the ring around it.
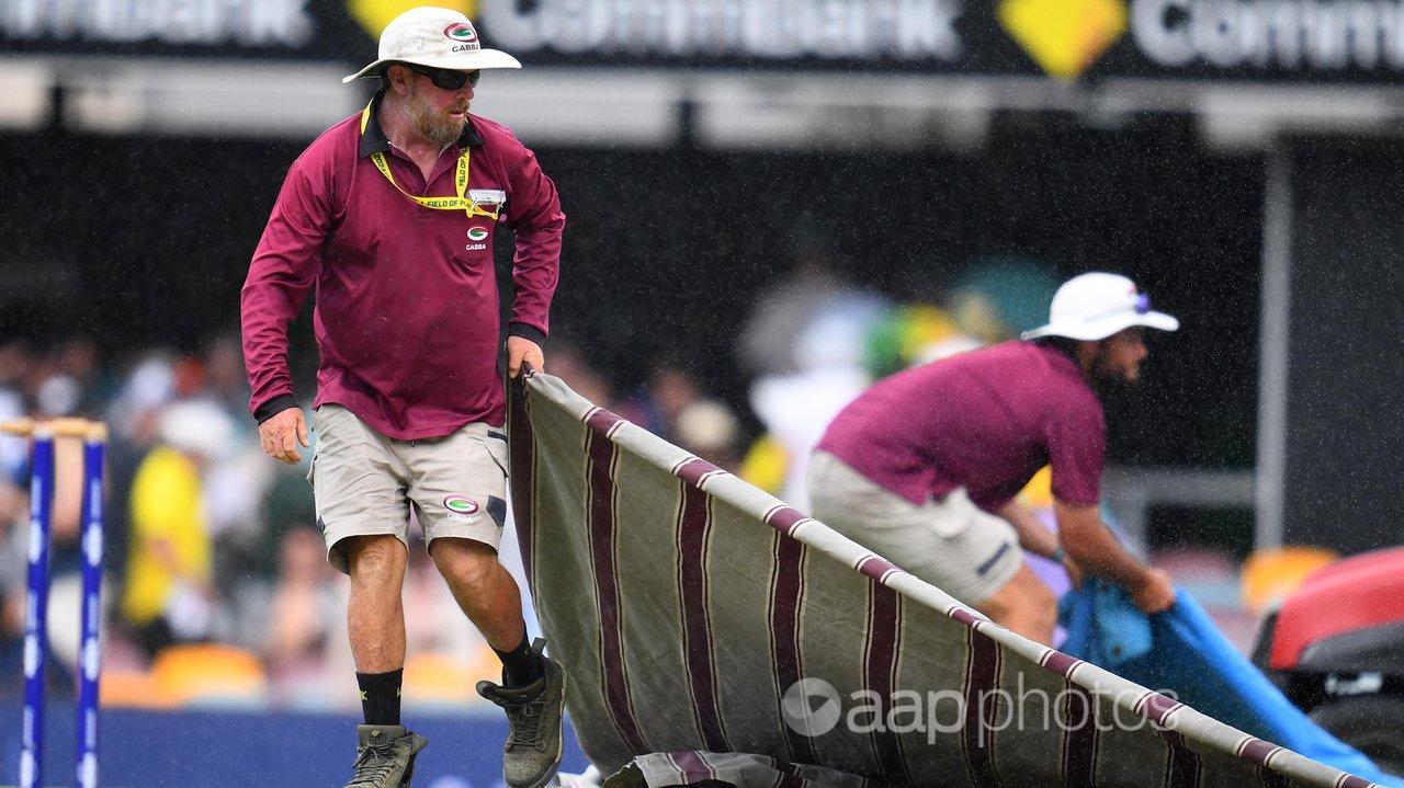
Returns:
[[[972,503],[963,488],[917,506],[827,451],[810,458],[807,484],[814,519],[969,606],[1024,565],[1014,526]]]

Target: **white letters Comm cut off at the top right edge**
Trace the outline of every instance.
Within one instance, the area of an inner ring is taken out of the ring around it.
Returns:
[[[1404,0],[1133,0],[1160,66],[1404,70]]]

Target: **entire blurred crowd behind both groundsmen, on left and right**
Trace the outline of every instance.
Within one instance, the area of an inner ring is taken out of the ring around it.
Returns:
[[[760,293],[737,338],[747,407],[698,380],[685,348],[619,391],[580,346],[552,339],[548,372],[591,401],[804,506],[809,450],[873,380],[1000,341],[1043,317],[1056,275],[986,261],[894,303],[847,280],[817,250]],[[299,381],[310,391],[310,381]],[[236,335],[197,355],[163,348],[104,359],[90,337],[0,341],[0,421],[86,416],[111,429],[104,548],[104,698],[171,705],[199,695],[191,672],[223,670],[225,702],[343,708],[355,702],[345,579],[324,559],[302,466],[265,457],[249,418]],[[49,606],[52,681],[72,691],[79,623],[81,454],[59,444]],[[0,439],[0,695],[22,672],[28,447]],[[510,547],[510,545],[508,545]],[[512,566],[504,547],[504,562]],[[497,670],[421,548],[406,580],[409,702],[473,702]],[[237,680],[234,680],[237,679]],[[174,688],[173,688],[174,687]],[[181,694],[181,687],[185,688]],[[194,687],[194,688],[192,688]],[[237,690],[237,691],[236,691]],[[237,695],[237,697],[236,697]]]

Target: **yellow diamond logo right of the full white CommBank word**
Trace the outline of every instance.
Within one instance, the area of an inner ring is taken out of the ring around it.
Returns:
[[[1004,0],[1000,24],[1049,76],[1075,80],[1126,32],[1123,0]]]

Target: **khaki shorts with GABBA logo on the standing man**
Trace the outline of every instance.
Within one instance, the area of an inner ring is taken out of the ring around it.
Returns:
[[[439,537],[482,541],[497,550],[507,520],[507,435],[486,423],[444,437],[395,440],[341,405],[312,416],[317,447],[312,484],[327,561],[347,572],[337,543],[395,534],[409,548],[410,510],[424,547]]]

